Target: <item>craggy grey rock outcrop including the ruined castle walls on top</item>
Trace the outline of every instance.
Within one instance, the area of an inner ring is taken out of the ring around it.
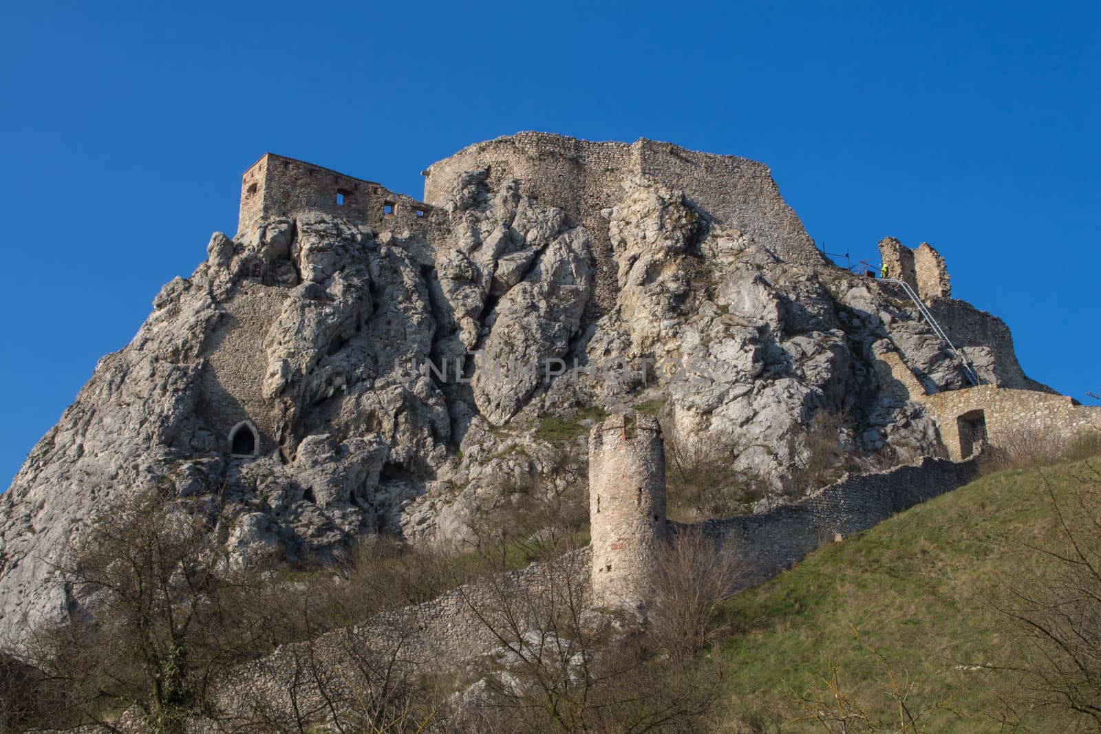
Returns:
[[[250,169],[241,231],[164,286],[0,496],[0,633],[84,603],[57,561],[142,487],[205,506],[243,562],[457,544],[517,492],[584,486],[585,408],[664,404],[667,436],[780,491],[820,412],[853,453],[938,450],[883,354],[930,393],[966,384],[908,302],[818,254],[759,163],[523,133],[432,166],[426,199]],[[942,281],[930,308],[982,376],[1043,388]]]

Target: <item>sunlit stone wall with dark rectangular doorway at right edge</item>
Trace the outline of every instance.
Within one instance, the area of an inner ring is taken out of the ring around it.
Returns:
[[[1066,395],[979,385],[922,395],[918,401],[937,421],[940,440],[955,459],[979,448],[966,434],[968,424],[980,420],[985,441],[993,447],[1012,446],[1031,432],[1073,439],[1083,431],[1101,430],[1101,407],[1077,405]]]

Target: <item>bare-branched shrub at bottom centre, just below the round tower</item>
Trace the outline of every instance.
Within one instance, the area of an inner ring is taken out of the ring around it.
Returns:
[[[495,670],[468,692],[455,731],[698,731],[718,672],[705,681],[671,668],[600,611],[577,536],[559,526],[548,524],[527,574],[506,572],[514,554],[506,541],[480,549],[500,572],[464,598],[498,646]]]

